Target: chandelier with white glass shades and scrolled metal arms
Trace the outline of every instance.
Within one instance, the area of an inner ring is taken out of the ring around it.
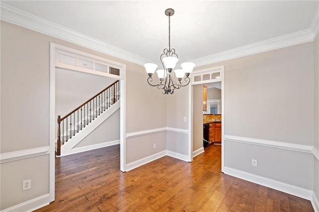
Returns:
[[[156,70],[158,65],[154,63],[144,64],[145,70],[149,75],[148,83],[151,86],[158,87],[158,89],[163,89],[163,94],[173,94],[174,89],[180,89],[181,87],[187,86],[190,82],[189,75],[195,67],[194,63],[182,63],[180,65],[182,69],[174,69],[178,62],[178,55],[175,53],[175,49],[170,48],[170,16],[173,14],[173,9],[168,8],[165,10],[165,15],[168,16],[168,49],[165,48],[160,55],[160,62],[163,69]],[[152,76],[155,71],[160,79],[160,83],[158,84],[152,84]],[[185,83],[182,84],[184,81]]]

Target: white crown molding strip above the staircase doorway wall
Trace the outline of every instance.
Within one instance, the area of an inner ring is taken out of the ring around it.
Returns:
[[[1,20],[22,26],[52,37],[75,43],[132,63],[143,65],[150,60],[79,32],[70,30],[51,21],[32,15],[1,2]]]

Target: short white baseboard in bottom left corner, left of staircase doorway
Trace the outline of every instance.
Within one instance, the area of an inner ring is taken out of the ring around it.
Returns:
[[[50,204],[50,194],[4,209],[1,212],[32,212]]]

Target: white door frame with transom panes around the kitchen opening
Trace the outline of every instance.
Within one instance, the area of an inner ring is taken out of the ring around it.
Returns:
[[[207,100],[203,100],[196,96],[196,92],[202,92],[203,94],[203,85],[217,85],[220,84],[220,89],[221,89],[221,99],[220,99],[220,106],[212,106],[212,109],[216,109],[218,112],[218,107],[219,111],[221,114],[221,171],[223,172],[224,169],[224,129],[225,129],[225,118],[224,118],[224,66],[218,66],[218,67],[212,67],[208,69],[202,69],[202,70],[197,70],[193,71],[191,74],[191,86],[189,87],[189,92],[188,92],[188,100],[189,100],[189,105],[188,105],[188,113],[190,117],[190,122],[189,122],[189,146],[190,146],[190,161],[192,161],[193,156],[196,156],[202,152],[204,152],[204,147],[203,147],[203,139],[201,137],[196,137],[196,131],[198,130],[203,130],[203,122],[200,121],[200,119],[203,119],[203,113],[201,113],[201,117],[196,117],[194,116],[194,109],[198,111],[198,108],[196,108],[195,102],[200,101],[199,104],[197,104],[197,107],[199,105],[201,106],[206,106],[207,108]],[[204,95],[204,94],[203,94]],[[200,95],[200,97],[203,97]],[[209,101],[208,104],[211,103],[216,103],[218,104],[218,101]],[[215,104],[216,105],[216,104]],[[202,108],[203,109],[203,108]],[[210,110],[210,108],[209,108]],[[204,109],[202,110],[204,111]],[[206,112],[207,113],[207,112]],[[199,133],[200,135],[201,133]]]

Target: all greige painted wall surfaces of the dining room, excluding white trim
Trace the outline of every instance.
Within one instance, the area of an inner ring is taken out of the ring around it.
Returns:
[[[147,84],[143,66],[1,21],[1,153],[49,145],[49,42],[126,64],[127,132],[165,126],[188,129],[187,87],[174,95],[161,95]],[[319,84],[318,36],[315,49],[314,42],[309,42],[197,69],[219,65],[225,65],[225,134],[319,149],[318,89],[314,92]],[[156,149],[154,141],[159,142]],[[178,149],[185,143],[187,135],[174,132],[127,139],[127,163],[165,148],[186,154],[186,146]],[[225,141],[225,147],[225,166],[314,188],[319,196],[319,162],[314,163],[311,154],[232,141]],[[257,156],[259,166],[252,169],[251,158]],[[300,162],[295,163],[296,158]],[[48,155],[2,163],[0,210],[47,194],[48,164]],[[283,167],[285,172],[278,171]],[[20,185],[26,179],[32,180],[32,189],[22,192]]]

